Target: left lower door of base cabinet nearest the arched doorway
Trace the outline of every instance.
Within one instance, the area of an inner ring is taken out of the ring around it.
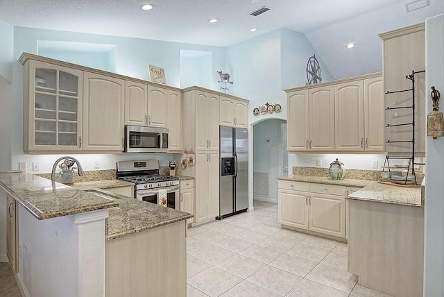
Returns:
[[[309,207],[307,192],[278,190],[278,218],[282,225],[308,230]]]

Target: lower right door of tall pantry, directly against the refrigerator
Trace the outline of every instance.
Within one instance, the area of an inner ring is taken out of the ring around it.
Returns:
[[[219,151],[208,151],[208,218],[219,216]]]

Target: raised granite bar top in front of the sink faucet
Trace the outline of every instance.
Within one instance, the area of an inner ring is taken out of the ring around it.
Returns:
[[[118,204],[30,173],[0,173],[0,187],[39,220],[115,207]]]

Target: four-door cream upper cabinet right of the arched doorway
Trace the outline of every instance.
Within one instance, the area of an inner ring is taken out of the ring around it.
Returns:
[[[381,74],[287,92],[288,151],[382,151]]]

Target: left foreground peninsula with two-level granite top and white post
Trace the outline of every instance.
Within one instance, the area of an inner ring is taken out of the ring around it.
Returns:
[[[0,173],[0,187],[16,224],[8,257],[28,296],[186,296],[191,214],[110,195],[100,183]]]

